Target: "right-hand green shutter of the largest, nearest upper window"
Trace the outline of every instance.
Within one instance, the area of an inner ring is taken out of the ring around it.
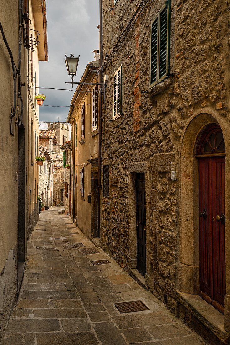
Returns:
[[[167,43],[168,43],[168,6],[164,7],[159,15],[159,79],[167,75]]]

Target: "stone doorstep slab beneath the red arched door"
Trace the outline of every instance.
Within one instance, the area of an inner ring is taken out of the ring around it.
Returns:
[[[229,340],[229,334],[224,329],[224,315],[218,312],[208,302],[198,295],[176,291],[176,297],[180,304],[190,311],[210,332],[212,332],[224,344]]]

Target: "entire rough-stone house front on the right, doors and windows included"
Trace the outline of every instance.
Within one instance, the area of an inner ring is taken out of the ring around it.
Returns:
[[[201,199],[208,182],[199,186],[199,169],[208,159],[202,161],[204,156],[212,161],[212,171],[225,164],[225,172],[218,170],[218,183],[222,195],[224,188],[229,190],[229,3],[158,0],[136,5],[118,0],[108,11],[110,7],[103,0],[103,74],[108,82],[102,112],[101,246],[208,341],[227,344],[230,198],[225,193],[225,211],[223,203],[207,217],[214,236],[214,227],[221,224],[216,217],[225,214],[225,243],[222,237],[217,248],[222,265],[218,299],[201,286],[206,224],[201,223]],[[208,142],[213,133],[215,142],[223,136],[225,151],[199,151],[201,141]],[[217,163],[218,155],[223,161]],[[209,249],[213,261],[206,264],[214,272],[215,253]]]

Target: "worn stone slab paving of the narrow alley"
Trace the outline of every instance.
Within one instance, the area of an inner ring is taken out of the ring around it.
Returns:
[[[52,207],[39,216],[28,242],[18,301],[1,344],[205,344]],[[46,229],[46,230],[39,230]],[[50,237],[66,237],[53,240]],[[82,243],[99,254],[63,244]],[[58,250],[37,250],[52,246]],[[93,266],[92,260],[110,264]],[[120,314],[115,302],[141,300],[150,309]]]

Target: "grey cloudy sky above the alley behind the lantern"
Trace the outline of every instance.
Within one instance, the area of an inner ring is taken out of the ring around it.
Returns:
[[[77,75],[80,78],[88,62],[93,61],[94,49],[99,49],[99,0],[46,0],[48,30],[48,62],[39,62],[39,86],[72,89],[67,74],[65,54],[80,54]],[[75,85],[76,89],[77,85]],[[74,90],[74,86],[73,86]],[[73,91],[45,90],[44,106],[39,107],[39,122],[66,122]],[[68,106],[68,108],[47,107]],[[42,124],[41,128],[47,128]]]

